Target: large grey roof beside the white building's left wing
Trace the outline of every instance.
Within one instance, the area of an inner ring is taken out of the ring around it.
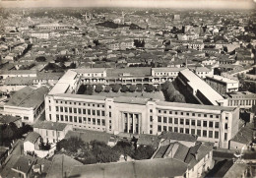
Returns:
[[[44,101],[44,94],[47,94],[48,91],[49,89],[46,87],[38,89],[26,87],[16,91],[6,105],[37,108]]]

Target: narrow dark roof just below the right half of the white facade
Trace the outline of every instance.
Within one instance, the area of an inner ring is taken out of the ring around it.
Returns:
[[[190,134],[182,134],[175,132],[166,132],[160,136],[161,139],[175,140],[175,141],[186,141],[186,142],[196,142],[197,136]]]

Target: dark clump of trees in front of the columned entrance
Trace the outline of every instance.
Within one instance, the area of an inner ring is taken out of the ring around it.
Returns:
[[[134,159],[149,159],[155,149],[153,147],[134,147],[132,142],[118,141],[114,147],[109,147],[103,142],[92,141],[84,142],[81,138],[71,137],[57,143],[57,151],[64,152],[74,156],[84,164],[116,162],[123,155],[125,160],[127,156]]]

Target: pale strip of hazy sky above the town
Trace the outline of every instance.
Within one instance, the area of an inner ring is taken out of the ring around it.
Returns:
[[[0,6],[256,9],[256,0],[0,0]]]

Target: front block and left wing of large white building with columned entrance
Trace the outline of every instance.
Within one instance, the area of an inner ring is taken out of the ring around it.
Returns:
[[[210,101],[216,103],[212,105],[81,95],[76,94],[80,76],[76,70],[69,70],[45,96],[46,120],[113,134],[193,134],[199,141],[213,142],[221,148],[228,148],[228,141],[238,131],[239,109],[218,105],[219,95],[210,95]]]

